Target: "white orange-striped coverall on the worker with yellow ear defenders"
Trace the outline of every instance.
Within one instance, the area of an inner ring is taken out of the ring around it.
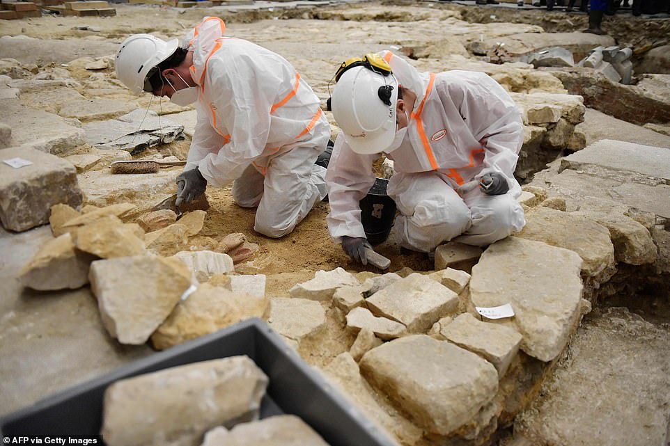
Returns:
[[[390,51],[380,55],[398,83],[416,95],[403,143],[386,154],[396,170],[387,193],[400,212],[398,244],[421,252],[451,239],[485,246],[521,230],[526,222],[515,200],[521,186],[513,172],[524,129],[511,97],[480,72],[419,73]],[[372,164],[378,157],[353,152],[342,134],[336,138],[326,175],[327,222],[336,243],[342,236],[365,237],[359,200],[375,182]],[[490,172],[506,177],[508,193],[455,191]]]

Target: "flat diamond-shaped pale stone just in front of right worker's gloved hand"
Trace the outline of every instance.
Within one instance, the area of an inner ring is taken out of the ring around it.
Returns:
[[[458,308],[458,294],[419,273],[410,274],[366,300],[373,314],[399,321],[410,333],[425,333]]]

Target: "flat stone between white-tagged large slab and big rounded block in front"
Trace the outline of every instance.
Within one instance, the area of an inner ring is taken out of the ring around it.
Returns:
[[[478,321],[463,313],[440,330],[446,340],[488,360],[503,376],[519,351],[522,336],[513,328]]]

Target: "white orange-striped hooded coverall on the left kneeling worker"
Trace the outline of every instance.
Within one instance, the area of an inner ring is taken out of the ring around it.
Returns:
[[[191,77],[200,87],[185,169],[200,169],[216,187],[234,180],[237,205],[258,207],[254,230],[281,237],[325,196],[326,169],[314,161],[330,127],[286,59],[224,37],[225,27],[205,17],[182,41],[193,50]]]

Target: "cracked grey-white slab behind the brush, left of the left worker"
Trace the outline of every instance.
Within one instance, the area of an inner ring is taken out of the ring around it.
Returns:
[[[171,143],[184,127],[154,111],[135,109],[116,119],[84,124],[86,141],[100,149],[127,150],[132,154],[157,145]]]

